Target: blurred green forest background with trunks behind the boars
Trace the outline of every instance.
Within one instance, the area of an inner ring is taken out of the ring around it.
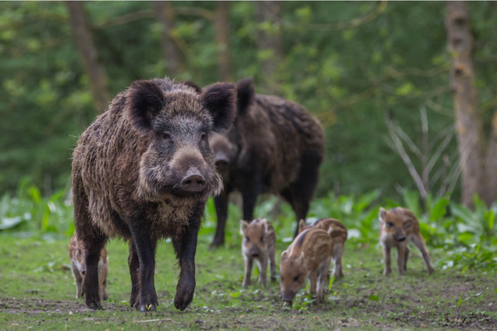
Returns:
[[[326,129],[317,196],[497,191],[497,3],[0,2],[0,192],[69,185],[77,137],[137,79],[255,79]]]

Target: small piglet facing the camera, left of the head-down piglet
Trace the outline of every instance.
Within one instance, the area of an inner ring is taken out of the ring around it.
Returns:
[[[266,268],[270,267],[270,279],[276,280],[276,236],[275,229],[267,219],[254,219],[250,223],[240,221],[241,254],[245,260],[245,277],[242,286],[250,285],[253,260],[257,261],[259,283],[267,286]]]

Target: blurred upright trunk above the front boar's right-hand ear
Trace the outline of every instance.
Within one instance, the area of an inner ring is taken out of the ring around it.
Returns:
[[[229,69],[229,2],[218,1],[214,17],[217,46],[217,70],[222,81],[231,81]]]

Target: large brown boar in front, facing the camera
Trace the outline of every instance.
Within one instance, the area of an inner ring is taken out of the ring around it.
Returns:
[[[230,83],[199,94],[168,79],[136,81],[81,134],[72,190],[74,224],[86,252],[86,306],[101,308],[98,259],[114,236],[129,242],[131,306],[156,310],[160,238],[171,238],[181,269],[174,306],[183,310],[192,301],[205,202],[222,187],[208,135],[231,126],[235,91]]]

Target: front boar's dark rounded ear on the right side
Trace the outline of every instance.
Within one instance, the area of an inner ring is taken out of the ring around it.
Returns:
[[[213,130],[218,133],[226,132],[236,115],[236,88],[232,83],[214,83],[202,89],[200,94],[205,108],[209,110],[214,120]]]

